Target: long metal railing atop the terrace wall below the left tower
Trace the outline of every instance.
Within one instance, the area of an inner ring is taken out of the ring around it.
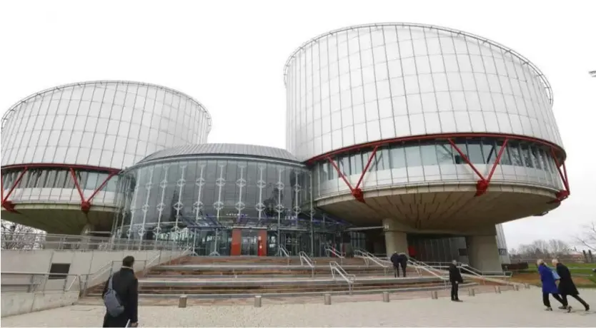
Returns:
[[[3,232],[2,250],[184,250],[187,242],[177,240],[134,240],[89,235]]]

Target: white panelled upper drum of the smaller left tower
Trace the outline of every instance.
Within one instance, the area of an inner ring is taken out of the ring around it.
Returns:
[[[51,88],[10,108],[1,165],[59,163],[125,168],[146,155],[206,143],[207,110],[169,88],[94,81]]]

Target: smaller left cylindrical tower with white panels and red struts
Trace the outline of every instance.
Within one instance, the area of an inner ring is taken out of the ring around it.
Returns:
[[[92,81],[24,98],[2,118],[2,218],[54,233],[110,230],[120,170],[207,142],[209,113],[162,86]]]

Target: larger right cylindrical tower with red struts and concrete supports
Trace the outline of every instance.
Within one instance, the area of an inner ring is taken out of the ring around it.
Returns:
[[[460,256],[490,262],[496,224],[569,195],[550,84],[499,43],[438,26],[352,26],[304,43],[284,78],[287,149],[311,165],[317,207],[382,222],[387,252],[421,234],[460,235],[475,245]]]

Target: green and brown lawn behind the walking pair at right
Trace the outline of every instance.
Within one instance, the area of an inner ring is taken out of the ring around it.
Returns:
[[[596,263],[569,263],[567,267],[577,287],[596,288],[596,273],[592,272]],[[529,264],[527,270],[514,272],[511,279],[515,282],[540,286],[540,275],[535,264]]]

